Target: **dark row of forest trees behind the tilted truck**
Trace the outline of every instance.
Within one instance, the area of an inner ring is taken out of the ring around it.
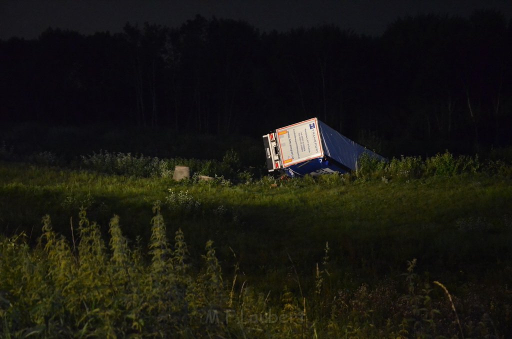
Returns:
[[[115,34],[49,28],[0,40],[0,71],[4,122],[258,136],[316,116],[377,151],[512,144],[512,22],[497,11],[398,18],[380,36],[200,15]]]

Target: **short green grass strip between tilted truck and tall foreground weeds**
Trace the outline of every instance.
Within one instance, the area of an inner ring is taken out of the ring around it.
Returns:
[[[293,179],[272,188],[272,180],[176,183],[4,163],[0,178],[4,234],[25,231],[36,239],[40,218],[49,214],[55,228],[69,236],[70,218],[83,205],[100,225],[118,214],[130,239],[147,241],[151,206],[160,200],[170,232],[181,227],[194,235],[193,248],[208,239],[224,255],[231,247],[240,264],[255,273],[258,267],[282,267],[287,252],[301,269],[311,269],[326,241],[335,260],[378,273],[413,257],[433,268],[440,261],[454,268],[499,263],[510,255],[511,180],[483,174],[390,183]],[[188,210],[184,202],[168,202],[169,188],[186,191],[200,206]]]

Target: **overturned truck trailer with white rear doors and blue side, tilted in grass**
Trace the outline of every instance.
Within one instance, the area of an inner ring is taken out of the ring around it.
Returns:
[[[263,143],[268,171],[284,171],[290,177],[356,171],[363,154],[385,160],[317,118],[271,131]]]

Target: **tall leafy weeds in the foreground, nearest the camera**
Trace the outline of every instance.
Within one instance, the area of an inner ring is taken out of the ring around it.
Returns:
[[[434,281],[446,303],[429,279],[415,273],[416,260],[408,262],[404,284],[333,286],[327,244],[310,291],[301,288],[297,295],[285,284],[272,300],[270,292],[237,285],[236,278],[227,286],[213,243],[206,243],[203,267],[190,269],[183,232],[176,231],[171,245],[158,203],[153,211],[149,262],[128,245],[118,216],[110,221],[107,248],[100,226],[84,209],[77,247],[56,234],[48,216],[34,249],[23,234],[0,239],[2,336],[500,337],[500,329],[507,330],[506,299],[497,303],[471,294],[461,307]],[[485,303],[489,311],[475,313]]]

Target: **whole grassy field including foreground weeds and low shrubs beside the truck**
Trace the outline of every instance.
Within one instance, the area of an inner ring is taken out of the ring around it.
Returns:
[[[227,154],[186,163],[225,177],[175,182],[150,158],[11,154],[0,162],[3,336],[507,337],[510,167],[450,157],[280,180]],[[160,172],[119,174],[140,163]],[[186,256],[171,245],[181,231]],[[232,321],[205,323],[211,309]]]

